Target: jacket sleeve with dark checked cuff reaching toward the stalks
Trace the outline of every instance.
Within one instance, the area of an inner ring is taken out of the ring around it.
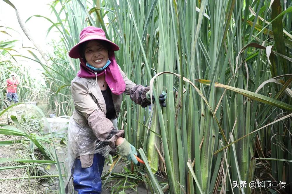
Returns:
[[[150,90],[149,87],[144,87],[142,85],[137,85],[134,82],[132,82],[126,74],[121,70],[121,67],[119,66],[120,72],[123,76],[123,79],[126,83],[126,89],[124,93],[126,95],[130,95],[130,98],[136,103],[140,104],[143,108],[149,106],[151,102],[149,102],[146,98],[147,91]]]

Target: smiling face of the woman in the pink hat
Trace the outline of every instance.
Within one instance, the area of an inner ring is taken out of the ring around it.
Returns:
[[[107,48],[98,40],[90,40],[85,45],[84,56],[90,65],[95,68],[102,68],[109,58]]]

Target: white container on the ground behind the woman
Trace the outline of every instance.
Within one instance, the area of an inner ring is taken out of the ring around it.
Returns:
[[[67,118],[64,118],[67,117]],[[46,118],[52,132],[58,132],[61,129],[67,128],[68,127],[68,122],[69,122],[69,116],[60,116],[57,118]],[[44,118],[42,119],[44,120]],[[50,129],[48,128],[48,126],[46,125],[46,122],[44,120],[44,133],[50,133]],[[60,131],[60,133],[67,133],[67,130],[65,131]]]

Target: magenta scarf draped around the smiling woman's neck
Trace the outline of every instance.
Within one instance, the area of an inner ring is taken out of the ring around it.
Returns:
[[[95,72],[86,66],[86,60],[80,59],[80,71],[77,73],[77,76],[83,78],[95,78]],[[115,95],[120,95],[126,89],[126,83],[122,77],[122,74],[119,70],[116,58],[114,57],[114,51],[109,52],[109,60],[111,63],[105,70],[97,72],[97,76],[105,74],[105,81],[111,89],[112,93]]]

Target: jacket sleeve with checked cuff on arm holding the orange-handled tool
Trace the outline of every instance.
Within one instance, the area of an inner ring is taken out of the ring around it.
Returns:
[[[71,90],[75,108],[86,117],[95,136],[98,140],[114,148],[117,138],[123,137],[124,131],[114,128],[112,122],[105,117],[105,114],[94,102],[86,86],[78,81],[72,81]]]

